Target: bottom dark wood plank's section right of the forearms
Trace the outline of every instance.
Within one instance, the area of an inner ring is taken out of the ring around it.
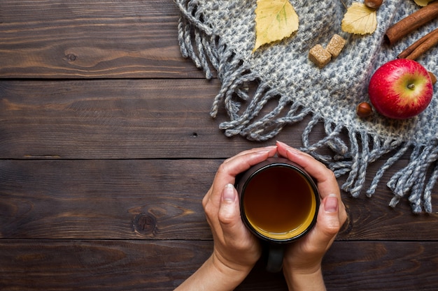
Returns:
[[[335,242],[323,262],[327,290],[438,290],[437,242]]]

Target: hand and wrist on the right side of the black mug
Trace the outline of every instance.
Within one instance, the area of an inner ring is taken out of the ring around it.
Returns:
[[[282,142],[277,142],[277,151],[279,156],[301,165],[316,179],[321,199],[316,225],[286,249],[283,274],[290,290],[325,290],[321,261],[347,218],[337,179],[309,154]]]

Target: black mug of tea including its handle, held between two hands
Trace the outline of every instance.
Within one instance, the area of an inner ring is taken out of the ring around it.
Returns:
[[[243,223],[269,244],[267,271],[281,271],[285,244],[316,223],[320,198],[315,181],[296,163],[272,157],[236,177],[235,186]]]

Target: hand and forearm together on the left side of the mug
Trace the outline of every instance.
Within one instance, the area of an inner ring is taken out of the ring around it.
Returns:
[[[239,196],[234,188],[236,175],[276,154],[276,146],[250,149],[220,165],[202,205],[213,232],[211,257],[176,290],[234,290],[260,258],[259,241],[240,216]]]

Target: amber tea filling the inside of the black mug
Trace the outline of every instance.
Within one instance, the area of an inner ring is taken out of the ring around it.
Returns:
[[[267,166],[241,189],[243,219],[269,239],[295,239],[309,230],[317,209],[316,186],[290,165]]]

